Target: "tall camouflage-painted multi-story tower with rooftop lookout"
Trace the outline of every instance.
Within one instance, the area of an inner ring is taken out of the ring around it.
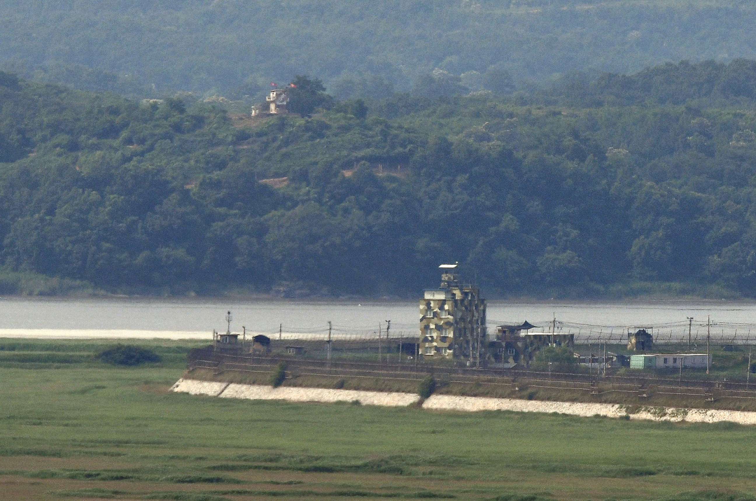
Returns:
[[[459,264],[442,264],[441,286],[420,299],[420,354],[484,360],[485,299],[460,283]]]

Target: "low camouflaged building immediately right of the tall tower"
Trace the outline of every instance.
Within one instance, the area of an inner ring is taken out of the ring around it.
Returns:
[[[497,326],[488,351],[495,363],[529,366],[535,354],[547,346],[575,346],[575,334],[565,332],[531,332],[538,329],[525,320],[521,325]]]

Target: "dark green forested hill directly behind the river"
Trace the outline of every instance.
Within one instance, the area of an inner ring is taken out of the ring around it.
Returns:
[[[662,66],[627,103],[606,82],[645,73],[369,110],[299,79],[327,110],[254,119],[0,73],[0,292],[415,295],[460,261],[489,297],[754,296],[752,66]],[[683,73],[709,90],[663,97]]]

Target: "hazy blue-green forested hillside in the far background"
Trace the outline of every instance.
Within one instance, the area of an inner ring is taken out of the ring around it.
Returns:
[[[506,91],[572,70],[756,57],[748,0],[0,0],[0,20],[0,70],[141,97],[242,97],[305,73],[386,96],[436,68]]]

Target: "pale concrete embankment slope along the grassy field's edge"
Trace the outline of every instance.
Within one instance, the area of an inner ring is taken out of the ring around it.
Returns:
[[[416,404],[420,397],[413,393],[384,393],[382,391],[336,390],[329,388],[271,388],[263,385],[179,379],[172,391],[222,398],[247,400],[287,400],[290,402],[352,402],[364,405],[404,407]],[[423,402],[423,409],[459,410],[512,410],[523,413],[560,413],[572,416],[606,416],[630,419],[650,419],[672,422],[730,421],[741,425],[756,425],[756,412],[742,410],[681,409],[676,407],[628,408],[618,404],[590,404],[583,402],[552,402],[547,400],[518,400],[514,398],[462,397],[458,395],[431,395]]]

